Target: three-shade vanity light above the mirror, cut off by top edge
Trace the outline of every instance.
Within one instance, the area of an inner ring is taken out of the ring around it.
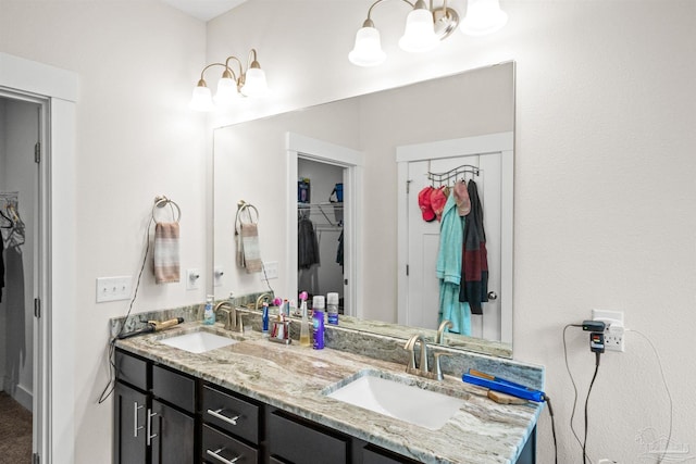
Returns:
[[[380,30],[372,21],[372,10],[385,0],[376,0],[368,10],[368,18],[356,34],[353,49],[348,53],[348,60],[358,66],[376,66],[386,60],[382,50]],[[408,52],[426,52],[449,37],[460,26],[459,13],[442,0],[439,7],[434,7],[430,0],[430,8],[425,0],[401,0],[411,8],[406,18],[403,36],[399,39],[399,47]],[[508,21],[508,15],[500,10],[498,0],[468,0],[467,16],[462,20],[460,29],[467,35],[485,35],[500,29]]]

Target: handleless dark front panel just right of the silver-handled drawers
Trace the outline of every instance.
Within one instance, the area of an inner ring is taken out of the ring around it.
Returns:
[[[349,437],[328,435],[319,428],[272,413],[269,416],[269,450],[272,456],[295,464],[348,462]]]

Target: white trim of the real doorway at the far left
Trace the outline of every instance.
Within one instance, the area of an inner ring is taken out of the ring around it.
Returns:
[[[0,52],[0,90],[47,100],[38,202],[41,317],[35,330],[35,346],[41,347],[35,372],[40,372],[34,383],[42,417],[34,452],[45,464],[75,461],[77,88],[75,73]]]

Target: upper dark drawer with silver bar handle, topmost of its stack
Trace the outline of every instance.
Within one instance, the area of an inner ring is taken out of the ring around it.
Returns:
[[[259,406],[224,391],[203,387],[203,422],[259,444]]]

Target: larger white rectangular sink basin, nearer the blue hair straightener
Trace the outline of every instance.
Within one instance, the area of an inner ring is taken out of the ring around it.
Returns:
[[[382,378],[372,372],[328,393],[327,397],[431,430],[440,429],[464,404],[461,398]]]

